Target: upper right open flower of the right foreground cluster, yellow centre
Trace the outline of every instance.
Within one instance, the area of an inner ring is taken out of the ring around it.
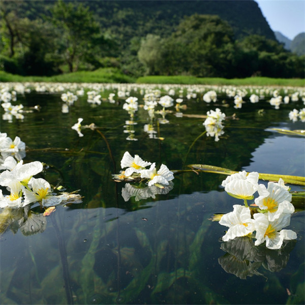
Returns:
[[[278,183],[268,182],[267,189],[264,185],[259,185],[258,194],[260,196],[255,199],[255,203],[260,209],[268,211],[269,221],[280,218],[283,213],[292,214],[294,212],[294,206],[290,202],[292,195],[289,193],[288,187],[285,187],[282,178]]]

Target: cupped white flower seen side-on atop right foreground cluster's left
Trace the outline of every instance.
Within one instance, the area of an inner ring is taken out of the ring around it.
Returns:
[[[258,188],[258,173],[251,172],[247,176],[246,171],[241,171],[228,176],[223,182],[222,186],[225,191],[239,199],[252,199],[253,194]]]

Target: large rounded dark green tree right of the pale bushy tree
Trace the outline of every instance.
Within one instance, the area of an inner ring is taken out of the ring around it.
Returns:
[[[192,15],[163,43],[163,71],[201,77],[230,77],[234,55],[233,31],[214,15]]]

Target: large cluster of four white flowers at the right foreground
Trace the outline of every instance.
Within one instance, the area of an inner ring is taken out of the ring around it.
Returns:
[[[267,188],[259,185],[258,179],[257,172],[247,175],[246,171],[241,171],[228,176],[222,182],[229,195],[243,200],[245,204],[233,205],[233,211],[221,217],[219,223],[229,227],[223,240],[251,236],[256,238],[255,246],[266,241],[267,248],[280,249],[284,240],[296,239],[294,231],[282,230],[289,226],[294,212],[292,196],[283,179],[280,178],[278,183],[268,182]],[[259,194],[254,200],[256,207],[250,208],[247,200],[252,200],[256,192]]]

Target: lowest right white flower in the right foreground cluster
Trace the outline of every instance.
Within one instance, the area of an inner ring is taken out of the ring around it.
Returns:
[[[256,230],[255,246],[266,241],[267,248],[280,249],[284,240],[296,238],[296,233],[292,230],[280,231],[282,228],[289,226],[289,214],[282,214],[280,218],[270,222],[268,221],[268,216],[266,214],[256,213],[254,214],[254,219]]]

